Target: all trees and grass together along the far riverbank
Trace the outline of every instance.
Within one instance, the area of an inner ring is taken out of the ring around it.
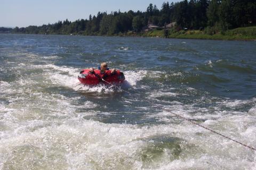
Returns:
[[[173,27],[166,28],[169,23]],[[156,29],[149,28],[149,24]],[[89,19],[65,20],[41,26],[15,27],[12,33],[145,36],[199,39],[255,39],[255,0],[190,0],[149,4],[145,12],[98,12]],[[0,30],[1,31],[1,30]]]

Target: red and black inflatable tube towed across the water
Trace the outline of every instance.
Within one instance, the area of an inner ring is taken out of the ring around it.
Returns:
[[[125,77],[119,70],[111,74],[111,70],[94,70],[94,72],[91,73],[90,69],[84,69],[80,72],[80,75],[78,75],[78,80],[85,85],[107,84],[107,82],[102,81],[102,79],[110,83],[119,84],[124,82]]]

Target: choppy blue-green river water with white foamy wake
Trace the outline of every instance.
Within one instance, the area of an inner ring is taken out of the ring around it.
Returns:
[[[256,42],[0,35],[1,169],[256,169]],[[108,62],[121,90],[77,85]],[[151,105],[140,98],[151,100]]]

